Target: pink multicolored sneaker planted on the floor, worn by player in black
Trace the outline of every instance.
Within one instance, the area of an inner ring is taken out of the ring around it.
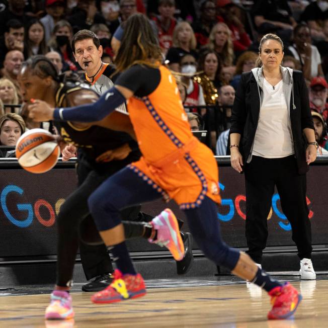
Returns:
[[[50,304],[46,308],[46,319],[71,319],[74,317],[72,298],[64,290],[54,290],[50,296]]]

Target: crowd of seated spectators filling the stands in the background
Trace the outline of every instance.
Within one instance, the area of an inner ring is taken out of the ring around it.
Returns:
[[[149,18],[163,62],[176,72],[186,112],[201,116],[212,149],[219,143],[218,154],[225,154],[234,91],[242,72],[256,67],[259,41],[267,33],[282,38],[283,65],[303,71],[310,108],[326,124],[328,0],[2,1],[0,116],[20,111],[17,74],[24,60],[43,54],[59,74],[80,71],[71,40],[77,31],[89,29],[100,38],[103,61],[112,62],[124,21],[136,12]],[[326,133],[325,128],[322,130]],[[321,139],[324,148],[327,138]]]

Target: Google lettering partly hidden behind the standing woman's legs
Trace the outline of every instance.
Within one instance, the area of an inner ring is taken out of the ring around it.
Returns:
[[[225,186],[222,185],[220,182],[219,182],[219,187],[220,187],[220,190],[221,191],[224,191],[225,189]],[[272,213],[274,212],[278,218],[280,220],[283,220],[283,221],[279,221],[278,224],[279,226],[286,230],[286,231],[289,231],[291,230],[291,225],[290,223],[288,222],[287,220],[287,217],[284,215],[284,213],[282,213],[279,209],[278,209],[278,201],[280,200],[280,196],[279,194],[274,194],[272,196],[272,201],[271,201],[271,209],[270,209],[270,213],[268,215],[268,220],[271,219],[272,217]],[[226,198],[226,199],[223,199],[221,200],[221,207],[222,206],[228,206],[228,213],[227,214],[221,214],[221,213],[217,213],[217,217],[220,221],[223,221],[223,222],[227,222],[227,221],[230,221],[233,216],[234,216],[234,213],[235,211],[237,212],[237,214],[243,219],[245,220],[246,219],[246,214],[242,212],[241,208],[240,208],[240,202],[245,202],[246,201],[246,196],[245,195],[237,195],[234,199],[234,201],[231,199],[231,198]],[[311,202],[310,200],[306,197],[306,203],[307,205],[309,205]],[[311,219],[313,217],[313,212],[312,211],[309,211],[309,215],[308,215],[309,219]]]

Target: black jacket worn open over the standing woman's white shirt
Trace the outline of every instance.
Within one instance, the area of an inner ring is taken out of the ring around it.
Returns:
[[[298,173],[305,174],[308,171],[305,158],[307,141],[303,135],[303,129],[314,129],[309,107],[308,90],[301,71],[294,70],[292,78],[289,70],[284,72],[287,75],[284,78],[283,74],[283,83],[287,87],[288,84],[292,85],[289,112]],[[244,165],[247,165],[247,158],[252,151],[258,126],[260,114],[259,92],[261,97],[263,97],[263,91],[258,86],[253,72],[242,73],[233,104],[230,133],[239,133],[241,135],[239,151]]]

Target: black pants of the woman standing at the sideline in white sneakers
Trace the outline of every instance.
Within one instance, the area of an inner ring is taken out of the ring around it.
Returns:
[[[267,217],[274,188],[277,187],[281,208],[292,227],[300,259],[311,258],[311,224],[306,204],[306,175],[297,172],[294,155],[283,158],[253,156],[244,166],[246,186],[246,238],[250,257],[262,262],[268,238]]]

